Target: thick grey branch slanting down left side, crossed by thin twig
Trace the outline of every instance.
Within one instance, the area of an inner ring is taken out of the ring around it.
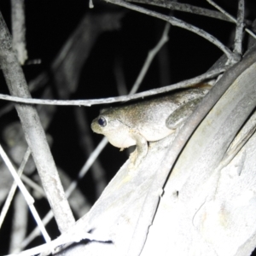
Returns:
[[[31,95],[27,88],[26,79],[12,49],[11,37],[1,13],[0,41],[0,62],[10,94],[30,98]],[[74,224],[73,213],[61,186],[37,110],[29,105],[16,105],[15,108],[25,131],[26,141],[32,150],[32,156],[42,179],[50,207],[55,212],[59,229],[61,232],[67,230],[69,226]]]

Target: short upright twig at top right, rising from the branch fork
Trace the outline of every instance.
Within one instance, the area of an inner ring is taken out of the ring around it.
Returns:
[[[236,22],[235,47],[234,47],[234,53],[239,56],[241,56],[243,20],[244,20],[244,0],[239,0],[238,11],[237,11],[237,22]]]

